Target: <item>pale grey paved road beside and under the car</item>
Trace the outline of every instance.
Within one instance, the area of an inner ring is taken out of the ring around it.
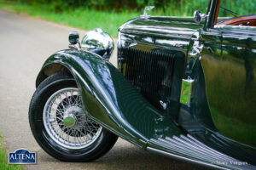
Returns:
[[[35,79],[50,54],[67,48],[71,30],[74,28],[0,10],[0,131],[8,150],[37,151],[38,164],[26,169],[200,169],[183,161],[149,154],[123,139],[106,156],[90,163],[61,162],[38,146],[27,118]],[[85,31],[79,33],[82,37]]]

